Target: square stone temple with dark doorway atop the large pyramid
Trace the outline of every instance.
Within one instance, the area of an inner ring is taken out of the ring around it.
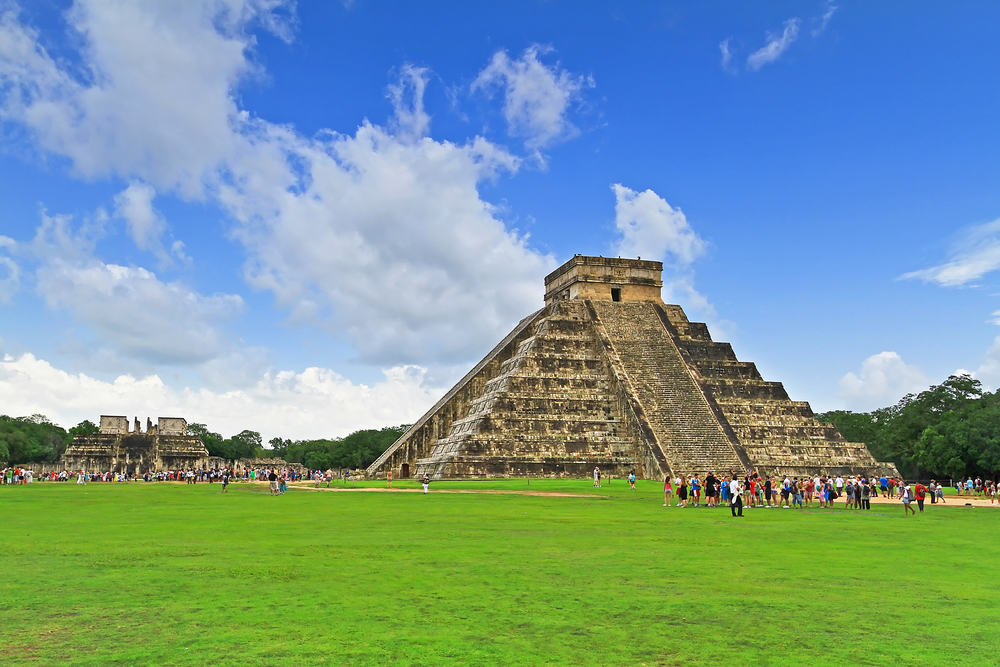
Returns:
[[[576,255],[545,276],[545,303],[563,299],[659,301],[663,262]]]

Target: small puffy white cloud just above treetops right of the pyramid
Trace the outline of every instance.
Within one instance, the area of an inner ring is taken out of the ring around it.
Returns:
[[[893,405],[929,386],[918,367],[905,363],[895,352],[879,352],[861,363],[857,375],[847,373],[840,379],[840,397],[849,410],[868,411]]]

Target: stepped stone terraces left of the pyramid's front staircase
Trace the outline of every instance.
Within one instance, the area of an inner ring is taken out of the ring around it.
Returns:
[[[416,475],[623,476],[637,460],[582,302],[549,306]]]

